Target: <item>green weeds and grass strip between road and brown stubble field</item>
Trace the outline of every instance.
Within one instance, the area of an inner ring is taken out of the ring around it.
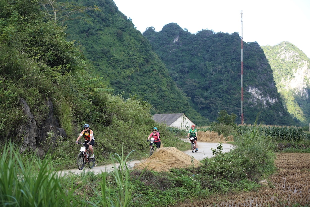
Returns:
[[[0,183],[6,187],[1,188],[0,202],[7,206],[172,206],[177,200],[257,191],[259,180],[276,170],[272,142],[253,126],[235,131],[234,144],[233,150],[223,153],[219,143],[212,149],[215,156],[202,160],[198,168],[161,173],[131,170],[126,161],[135,157],[135,151],[127,153],[122,144],[120,153],[108,155],[110,162],[121,163],[113,172],[81,171],[62,177],[55,171],[55,154],[43,159],[20,154],[18,146],[8,142],[1,147]],[[54,202],[57,205],[49,205]]]

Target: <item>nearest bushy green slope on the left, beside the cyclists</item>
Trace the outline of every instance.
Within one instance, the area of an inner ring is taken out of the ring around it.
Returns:
[[[66,40],[66,27],[47,13],[45,8],[50,9],[50,3],[0,0],[0,145],[4,147],[11,141],[20,153],[54,153],[53,161],[66,168],[75,167],[79,152],[75,141],[85,123],[94,131],[99,146],[95,149],[96,161],[101,164],[110,152],[128,154],[135,150],[131,156],[139,159],[147,155],[146,138],[154,126],[166,137],[162,142],[166,140],[165,145],[171,146],[175,137],[154,122],[149,103],[136,96],[124,99],[113,95],[107,77],[95,75],[81,48]],[[77,12],[96,10],[73,4],[64,6]],[[55,14],[60,15],[61,11],[57,9]],[[160,67],[152,68],[155,63]],[[152,62],[148,69],[166,70],[160,61]],[[155,83],[149,83],[155,88],[148,89],[150,96],[162,92],[159,95],[167,98],[166,102],[172,95],[182,97],[173,81],[170,84],[169,79],[164,80],[158,85],[162,91],[156,91]],[[164,83],[171,87],[165,88]],[[184,110],[197,113],[184,97],[178,100],[184,104]]]

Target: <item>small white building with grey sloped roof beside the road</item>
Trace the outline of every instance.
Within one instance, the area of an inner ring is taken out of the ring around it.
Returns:
[[[154,114],[154,121],[167,124],[169,127],[189,130],[194,124],[184,113],[180,114]]]

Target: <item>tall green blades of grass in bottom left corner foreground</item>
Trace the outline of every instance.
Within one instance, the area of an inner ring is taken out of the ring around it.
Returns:
[[[51,157],[22,157],[12,144],[5,144],[0,169],[0,206],[81,206],[73,194],[79,186],[64,191]]]

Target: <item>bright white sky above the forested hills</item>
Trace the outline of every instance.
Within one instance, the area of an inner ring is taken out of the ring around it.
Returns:
[[[161,31],[169,23],[194,34],[202,29],[233,33],[260,46],[288,41],[310,58],[310,0],[113,0],[136,29]]]

